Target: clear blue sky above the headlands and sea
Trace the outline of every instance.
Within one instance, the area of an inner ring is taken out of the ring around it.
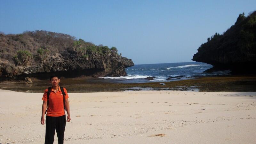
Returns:
[[[115,46],[135,64],[191,62],[208,37],[255,10],[255,0],[0,0],[0,31],[70,34]]]

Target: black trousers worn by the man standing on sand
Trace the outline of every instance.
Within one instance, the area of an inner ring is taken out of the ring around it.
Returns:
[[[66,115],[60,117],[46,116],[45,144],[53,144],[55,129],[59,144],[63,144],[66,126]]]

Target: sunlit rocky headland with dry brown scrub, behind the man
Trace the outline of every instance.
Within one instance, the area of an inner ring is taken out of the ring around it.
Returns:
[[[134,65],[131,59],[117,54],[117,50],[83,40],[80,46],[84,48],[84,55],[80,56],[79,51],[74,50],[74,42],[78,41],[70,35],[47,31],[25,32],[22,35],[0,34],[0,81],[24,80],[25,77],[48,79],[52,73],[67,78],[81,75],[116,77],[126,75],[125,68]],[[44,62],[38,60],[36,51],[39,48],[49,50]],[[15,63],[14,57],[20,49],[32,54],[26,65]]]

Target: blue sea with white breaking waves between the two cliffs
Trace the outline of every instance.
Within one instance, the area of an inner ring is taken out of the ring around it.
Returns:
[[[225,76],[230,75],[229,73],[231,72],[229,70],[204,72],[209,68],[212,68],[211,64],[201,62],[135,64],[125,69],[127,76],[100,78],[102,81],[113,83],[166,82],[196,79],[198,77]]]

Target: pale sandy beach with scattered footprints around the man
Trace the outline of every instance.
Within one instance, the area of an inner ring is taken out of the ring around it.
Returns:
[[[42,95],[0,90],[0,143],[44,143]],[[69,93],[69,101],[64,143],[256,143],[255,92]]]

